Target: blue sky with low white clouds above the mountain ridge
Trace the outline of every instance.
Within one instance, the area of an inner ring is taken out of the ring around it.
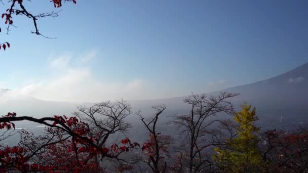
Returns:
[[[55,10],[49,1],[26,5]],[[308,62],[307,1],[78,0],[62,9],[38,21],[57,39],[30,34],[20,17],[2,33],[11,48],[0,52],[1,88],[56,101],[167,98]]]

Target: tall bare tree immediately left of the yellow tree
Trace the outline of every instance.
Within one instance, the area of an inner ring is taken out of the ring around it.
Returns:
[[[225,134],[217,129],[222,124],[227,129],[226,121],[215,118],[218,113],[232,115],[234,108],[227,100],[237,94],[220,93],[219,96],[192,95],[184,100],[184,103],[191,106],[190,112],[186,115],[174,115],[175,123],[179,126],[180,133],[184,136],[183,145],[178,147],[178,152],[183,153],[179,167],[183,171],[191,172],[205,171],[212,166],[211,153],[207,149],[221,145],[221,138]],[[213,128],[216,127],[216,128]],[[232,129],[227,129],[232,133]],[[184,170],[185,169],[185,170]]]

